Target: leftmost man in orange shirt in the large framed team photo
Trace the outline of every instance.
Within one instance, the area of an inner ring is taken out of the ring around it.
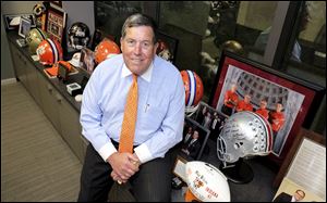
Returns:
[[[234,107],[238,105],[239,96],[237,93],[238,86],[232,84],[230,90],[226,91],[221,112],[230,116],[233,114]]]

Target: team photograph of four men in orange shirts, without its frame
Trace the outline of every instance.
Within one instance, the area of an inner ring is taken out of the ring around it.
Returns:
[[[267,119],[274,135],[272,153],[280,155],[303,101],[302,93],[230,65],[216,109],[226,116],[251,111]]]

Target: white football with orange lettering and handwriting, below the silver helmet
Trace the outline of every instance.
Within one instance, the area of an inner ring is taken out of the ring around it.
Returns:
[[[202,202],[230,202],[230,189],[227,178],[218,168],[205,162],[192,161],[186,163],[185,170],[186,183],[189,190],[196,198],[195,200]]]

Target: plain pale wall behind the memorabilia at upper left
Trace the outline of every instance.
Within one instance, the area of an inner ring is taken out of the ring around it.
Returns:
[[[1,1],[1,80],[13,78],[14,71],[4,29],[3,14],[32,13],[33,7],[43,1]],[[95,29],[94,1],[62,1],[62,8],[68,13],[68,28],[74,22],[84,22],[90,34]]]

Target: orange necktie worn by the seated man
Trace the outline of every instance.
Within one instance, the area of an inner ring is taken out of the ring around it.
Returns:
[[[135,125],[137,117],[137,75],[133,74],[133,84],[131,85],[122,122],[119,152],[133,153],[133,141],[135,135]]]

